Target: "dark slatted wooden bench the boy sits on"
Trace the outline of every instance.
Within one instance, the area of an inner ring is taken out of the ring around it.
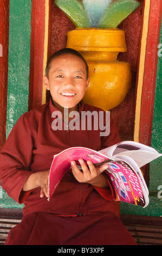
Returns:
[[[162,218],[121,215],[121,220],[138,245],[162,245]],[[21,222],[22,211],[0,209],[0,245],[4,245],[9,231]]]

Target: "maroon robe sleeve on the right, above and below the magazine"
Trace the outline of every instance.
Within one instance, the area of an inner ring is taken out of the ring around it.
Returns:
[[[111,147],[112,145],[120,142],[118,130],[116,129],[116,126],[111,116],[109,120],[109,125],[109,135],[101,138],[101,149]],[[104,172],[104,174],[106,176],[109,188],[101,188],[95,186],[93,187],[100,194],[101,197],[105,198],[108,201],[112,201],[114,199],[114,190],[107,175],[107,172]]]

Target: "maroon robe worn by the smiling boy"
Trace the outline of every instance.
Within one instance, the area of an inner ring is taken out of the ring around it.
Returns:
[[[48,202],[40,187],[22,192],[29,175],[50,169],[53,156],[69,147],[100,150],[120,141],[111,119],[109,136],[100,130],[52,129],[57,111],[51,100],[17,121],[0,153],[0,179],[8,195],[23,203],[22,222],[12,228],[6,245],[134,245],[119,218],[113,191],[77,182],[72,171],[64,175]],[[82,111],[101,111],[81,102]],[[62,124],[64,122],[61,120]],[[108,178],[107,178],[108,180]],[[108,180],[109,182],[109,180]]]

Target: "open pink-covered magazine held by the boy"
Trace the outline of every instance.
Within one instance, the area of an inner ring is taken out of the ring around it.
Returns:
[[[83,147],[63,150],[54,156],[49,173],[49,198],[56,190],[64,174],[70,169],[71,161],[91,160],[95,166],[107,163],[105,170],[114,190],[114,200],[123,201],[143,208],[149,203],[148,189],[140,167],[157,159],[162,154],[144,144],[125,141],[95,151]]]

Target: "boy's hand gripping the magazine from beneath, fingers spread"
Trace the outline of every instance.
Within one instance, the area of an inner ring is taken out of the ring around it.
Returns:
[[[92,161],[88,160],[87,164],[79,159],[82,171],[77,167],[75,161],[71,162],[72,172],[75,179],[82,183],[89,183],[96,187],[108,188],[108,182],[106,176],[102,173],[108,168],[108,164],[102,164],[101,166],[95,167]]]

